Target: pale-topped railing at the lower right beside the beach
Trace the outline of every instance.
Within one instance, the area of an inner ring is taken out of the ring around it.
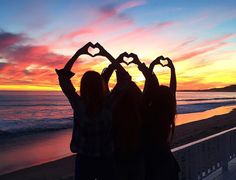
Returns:
[[[227,171],[236,156],[236,127],[172,149],[180,180],[201,180],[216,170]]]

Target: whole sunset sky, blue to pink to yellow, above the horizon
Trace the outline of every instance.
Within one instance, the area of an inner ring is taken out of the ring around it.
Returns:
[[[179,90],[236,84],[235,0],[0,0],[0,90],[59,90],[55,68],[88,41],[114,57],[137,53],[147,65],[170,57]],[[85,71],[107,65],[81,56],[77,89]],[[124,67],[142,86],[137,67]],[[155,72],[168,84],[168,68]]]

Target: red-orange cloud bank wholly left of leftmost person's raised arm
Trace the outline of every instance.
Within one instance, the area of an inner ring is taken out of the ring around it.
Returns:
[[[0,83],[53,83],[52,79],[56,78],[54,69],[63,67],[69,58],[51,52],[46,45],[22,45],[24,38],[21,34],[0,34],[0,53],[1,59],[4,59],[0,63]],[[30,66],[33,68],[29,69]]]

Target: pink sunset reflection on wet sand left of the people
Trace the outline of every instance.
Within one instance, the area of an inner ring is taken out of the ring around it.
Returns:
[[[10,139],[0,146],[0,174],[71,155],[71,129]]]

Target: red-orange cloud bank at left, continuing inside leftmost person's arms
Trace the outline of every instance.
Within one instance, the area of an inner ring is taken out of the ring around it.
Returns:
[[[0,84],[56,85],[55,68],[63,68],[69,58],[52,52],[47,45],[20,45],[18,41],[12,41],[9,48],[1,51],[1,59],[4,59],[4,61],[0,63]],[[85,62],[78,60],[73,69],[78,72],[80,77],[83,72],[91,69],[94,64],[102,61],[102,59],[94,59],[87,65]],[[78,64],[81,64],[79,70]],[[75,84],[78,86],[78,82]]]

